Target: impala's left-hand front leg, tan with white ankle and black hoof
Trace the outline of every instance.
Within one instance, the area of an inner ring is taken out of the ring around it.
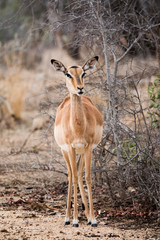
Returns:
[[[77,175],[77,163],[76,163],[76,153],[75,149],[69,148],[69,160],[72,169],[72,180],[74,187],[74,213],[73,213],[73,227],[78,227],[78,210],[77,210],[77,184],[78,184],[78,175]]]

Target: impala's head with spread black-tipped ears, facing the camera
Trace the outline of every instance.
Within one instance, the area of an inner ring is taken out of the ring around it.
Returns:
[[[78,96],[84,93],[84,76],[86,71],[95,67],[98,57],[89,59],[82,67],[71,66],[66,68],[60,61],[51,59],[51,64],[56,71],[61,71],[66,75],[66,85],[70,93]]]

